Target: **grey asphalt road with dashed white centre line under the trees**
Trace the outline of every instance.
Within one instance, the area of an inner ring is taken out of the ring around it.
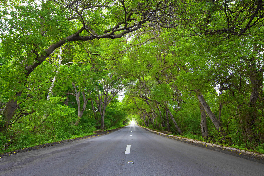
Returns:
[[[0,175],[260,176],[264,164],[128,125],[106,135],[0,158]]]

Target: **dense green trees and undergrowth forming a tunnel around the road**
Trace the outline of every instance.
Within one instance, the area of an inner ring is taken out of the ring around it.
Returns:
[[[262,1],[0,5],[2,152],[132,119],[264,151]]]

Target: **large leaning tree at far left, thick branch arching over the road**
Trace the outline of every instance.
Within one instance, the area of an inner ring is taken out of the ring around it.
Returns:
[[[0,27],[6,31],[1,40],[6,57],[15,59],[13,64],[20,68],[16,72],[23,76],[16,82],[20,86],[10,88],[14,93],[6,104],[5,123],[0,130],[7,129],[30,73],[60,46],[72,41],[120,38],[144,28],[147,22],[171,26],[163,25],[162,20],[168,15],[172,2],[144,2],[54,0],[38,5],[31,0],[14,6],[16,11],[1,10],[5,22]]]

